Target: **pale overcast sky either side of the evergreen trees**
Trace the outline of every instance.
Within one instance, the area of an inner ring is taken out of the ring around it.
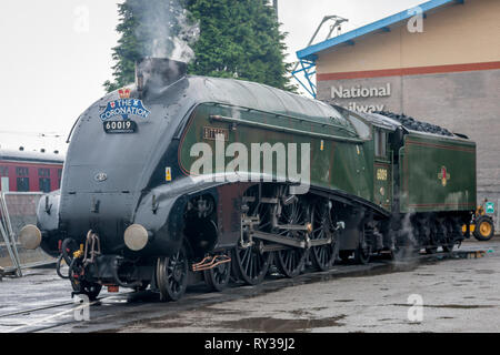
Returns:
[[[146,0],[144,0],[146,1]],[[117,0],[0,1],[0,148],[66,151],[78,115],[104,94],[117,44]],[[324,16],[349,19],[342,33],[423,0],[279,0],[294,52]],[[323,40],[328,27],[318,36]],[[41,138],[44,134],[46,138]]]

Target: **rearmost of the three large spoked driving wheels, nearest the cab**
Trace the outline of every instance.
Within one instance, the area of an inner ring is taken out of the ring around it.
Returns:
[[[330,219],[330,209],[328,201],[320,200],[312,206],[312,232],[311,240],[333,239],[332,223]],[[329,270],[339,254],[339,243],[332,241],[331,244],[313,246],[310,250],[311,261],[316,268],[320,271]]]

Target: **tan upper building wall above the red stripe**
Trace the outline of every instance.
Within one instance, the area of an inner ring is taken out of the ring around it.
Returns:
[[[499,14],[498,0],[447,6],[427,16],[421,33],[409,32],[403,22],[391,32],[370,33],[354,40],[354,45],[340,44],[319,53],[318,80],[357,71],[498,62]]]

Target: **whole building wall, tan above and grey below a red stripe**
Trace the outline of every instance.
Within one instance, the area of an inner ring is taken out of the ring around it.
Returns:
[[[466,0],[440,9],[428,16],[423,30],[409,33],[404,26],[319,53],[318,99],[359,111],[403,112],[469,135],[478,148],[478,202],[497,202],[500,1]],[[388,85],[390,94],[382,97],[338,97],[340,88],[364,88],[367,93]]]

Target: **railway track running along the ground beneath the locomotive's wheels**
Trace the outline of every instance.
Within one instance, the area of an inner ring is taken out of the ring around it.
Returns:
[[[198,287],[198,291],[189,292],[186,300],[176,303],[141,303],[146,307],[141,308],[147,317],[148,314],[159,314],[162,312],[172,312],[176,310],[191,308],[193,305],[200,306],[201,303],[212,304],[221,303],[226,301],[232,301],[243,298],[247,296],[256,296],[260,293],[267,293],[269,291],[278,291],[292,285],[316,283],[319,281],[326,281],[330,278],[340,277],[356,277],[356,276],[370,276],[382,273],[392,273],[407,268],[416,268],[418,264],[424,264],[432,261],[457,260],[457,258],[479,258],[491,251],[488,248],[473,248],[473,250],[459,250],[452,253],[436,253],[432,255],[420,254],[413,258],[408,258],[400,262],[392,262],[388,260],[376,260],[370,265],[354,265],[352,263],[336,265],[332,270],[320,273],[302,273],[296,278],[283,278],[277,274],[272,274],[262,284],[251,287],[238,287],[233,285],[224,293],[213,293],[212,297],[206,297],[206,292]],[[197,286],[194,286],[197,287]],[[90,303],[90,306],[104,304],[110,307],[98,307],[100,311],[96,313],[97,308],[92,308],[92,321],[101,320],[103,317],[121,317],[128,310],[119,307],[124,301],[130,300],[129,296],[134,294],[133,292],[123,292],[120,294],[106,295],[99,297],[96,302]],[[110,302],[111,301],[111,302]],[[114,302],[113,302],[114,301]],[[54,304],[48,304],[39,307],[31,307],[26,310],[19,310],[14,312],[0,314],[0,332],[6,333],[37,333],[50,331],[66,325],[81,323],[77,321],[73,313],[79,307],[89,305],[79,305],[76,302],[61,302]],[[106,310],[104,310],[106,308]],[[129,307],[127,307],[129,308]],[[136,307],[133,307],[137,311]],[[161,310],[159,310],[161,308]],[[123,321],[122,320],[122,321]],[[113,321],[114,322],[114,321]]]

